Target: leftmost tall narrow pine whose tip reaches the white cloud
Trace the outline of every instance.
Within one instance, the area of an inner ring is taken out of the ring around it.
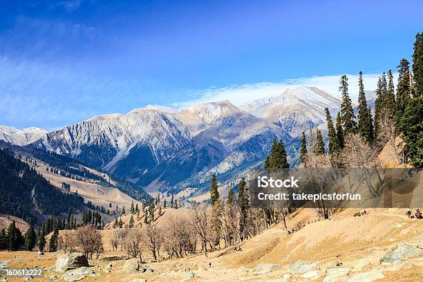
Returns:
[[[339,81],[339,91],[341,91],[342,94],[342,126],[344,127],[344,135],[347,135],[348,133],[355,132],[356,123],[353,105],[351,103],[350,96],[348,95],[348,77],[346,75],[342,75],[341,80]]]

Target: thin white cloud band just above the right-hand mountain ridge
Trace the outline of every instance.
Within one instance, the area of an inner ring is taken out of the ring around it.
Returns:
[[[382,73],[364,74],[364,88],[374,91],[377,88],[377,79]],[[355,100],[358,95],[358,75],[347,75],[350,97]],[[296,79],[285,79],[283,82],[262,82],[256,84],[243,84],[227,86],[223,88],[208,88],[203,91],[193,91],[194,99],[173,103],[172,106],[178,109],[186,109],[196,104],[229,100],[232,104],[240,106],[245,102],[259,100],[265,97],[279,95],[286,88],[299,86],[314,86],[321,88],[328,93],[339,96],[338,86],[341,75],[325,75],[315,77],[301,77]],[[394,82],[397,81],[397,73],[394,73]]]

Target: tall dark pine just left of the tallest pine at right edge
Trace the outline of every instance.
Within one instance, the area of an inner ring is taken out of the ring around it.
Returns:
[[[406,59],[402,59],[398,68],[398,84],[397,84],[397,99],[395,100],[395,122],[398,126],[405,129],[405,126],[401,126],[400,121],[404,115],[404,111],[411,99],[411,85],[410,85],[410,67]],[[376,122],[376,120],[375,120]]]

